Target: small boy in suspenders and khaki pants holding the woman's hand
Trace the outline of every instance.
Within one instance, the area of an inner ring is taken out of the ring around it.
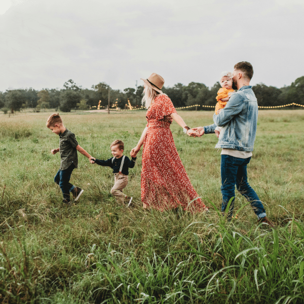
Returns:
[[[128,202],[128,207],[131,204],[132,197],[128,197],[123,194],[123,189],[128,184],[128,175],[129,168],[134,168],[136,157],[132,157],[132,160],[126,156],[123,156],[124,153],[124,142],[121,140],[115,140],[110,145],[112,158],[102,161],[94,160],[97,165],[107,166],[113,169],[115,182],[111,188],[111,194],[116,197],[118,203],[123,204],[124,201]]]

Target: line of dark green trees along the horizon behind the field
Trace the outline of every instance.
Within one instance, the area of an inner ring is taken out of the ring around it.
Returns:
[[[195,104],[215,106],[219,82],[208,88],[202,83],[191,82],[187,86],[178,83],[173,87],[164,87],[163,92],[172,100],[175,107],[191,106]],[[290,86],[276,88],[262,83],[252,87],[259,106],[278,106],[289,103],[304,104],[304,76],[297,78]],[[34,108],[35,111],[55,108],[63,112],[72,109],[86,110],[90,107],[107,108],[108,96],[110,107],[121,109],[137,108],[141,106],[143,86],[127,88],[123,91],[113,90],[104,82],[93,85],[91,89],[84,89],[72,80],[64,83],[62,89],[30,89],[7,90],[0,92],[0,109],[5,113],[24,108]],[[198,107],[198,109],[210,109]]]

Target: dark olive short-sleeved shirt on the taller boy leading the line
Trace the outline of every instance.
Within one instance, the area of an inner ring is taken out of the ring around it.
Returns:
[[[75,168],[77,168],[78,156],[76,147],[78,146],[78,142],[75,135],[65,129],[65,131],[59,135],[59,138],[60,170],[67,169],[71,164],[74,164]]]

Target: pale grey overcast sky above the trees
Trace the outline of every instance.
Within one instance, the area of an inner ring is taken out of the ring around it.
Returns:
[[[123,90],[152,72],[211,87],[239,61],[281,88],[304,75],[303,16],[303,0],[1,0],[0,91]]]

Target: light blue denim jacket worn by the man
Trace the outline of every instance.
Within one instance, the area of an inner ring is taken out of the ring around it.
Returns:
[[[213,115],[214,124],[204,127],[205,133],[214,133],[221,127],[215,148],[252,151],[257,126],[257,100],[251,86],[234,93],[218,115]]]

